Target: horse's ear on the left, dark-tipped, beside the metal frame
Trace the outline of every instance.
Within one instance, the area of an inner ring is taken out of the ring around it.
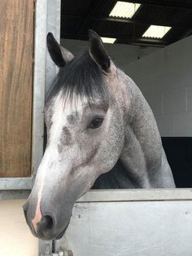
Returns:
[[[52,33],[47,34],[46,45],[51,59],[59,68],[62,68],[74,57],[70,51],[63,48],[63,46],[59,46],[59,43],[56,41]]]

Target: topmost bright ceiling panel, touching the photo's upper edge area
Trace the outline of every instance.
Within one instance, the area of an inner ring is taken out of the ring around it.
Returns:
[[[140,3],[117,1],[109,16],[131,19],[140,6]]]

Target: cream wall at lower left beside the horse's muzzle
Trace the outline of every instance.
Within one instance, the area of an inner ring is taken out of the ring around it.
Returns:
[[[38,240],[29,231],[22,205],[26,200],[0,201],[0,255],[37,256]]]

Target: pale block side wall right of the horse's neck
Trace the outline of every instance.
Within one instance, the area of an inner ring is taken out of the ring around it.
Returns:
[[[124,67],[151,105],[161,136],[192,136],[192,37]]]

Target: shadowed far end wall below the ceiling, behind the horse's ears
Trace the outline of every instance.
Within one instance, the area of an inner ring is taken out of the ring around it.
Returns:
[[[87,49],[89,47],[88,41],[61,39],[61,45],[72,51],[73,54]],[[154,51],[158,51],[159,47],[152,46],[132,46],[123,44],[105,44],[105,47],[111,56],[111,59],[120,67],[124,68],[127,64],[151,54]]]

